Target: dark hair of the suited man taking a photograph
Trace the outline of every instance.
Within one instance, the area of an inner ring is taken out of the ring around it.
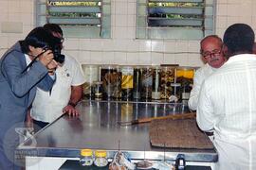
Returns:
[[[54,48],[56,45],[60,44],[61,40],[54,37],[49,31],[44,27],[39,26],[32,29],[25,38],[24,41],[20,41],[21,49],[23,53],[29,52],[28,46],[33,47],[48,47]]]

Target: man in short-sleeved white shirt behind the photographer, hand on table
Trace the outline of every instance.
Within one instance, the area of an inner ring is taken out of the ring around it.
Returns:
[[[44,26],[53,36],[63,39],[63,30],[55,24]],[[63,39],[64,40],[64,39]],[[46,127],[64,113],[78,116],[77,103],[82,99],[82,84],[85,79],[82,75],[80,64],[71,57],[65,56],[64,63],[59,64],[56,69],[56,82],[51,93],[37,89],[35,99],[32,103],[30,116],[33,124],[38,127]]]

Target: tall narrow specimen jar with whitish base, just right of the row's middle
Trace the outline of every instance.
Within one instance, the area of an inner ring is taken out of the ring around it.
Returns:
[[[153,69],[153,81],[152,81],[152,99],[161,99],[161,73],[160,67],[154,67]]]

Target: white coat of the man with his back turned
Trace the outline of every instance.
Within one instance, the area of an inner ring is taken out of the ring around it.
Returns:
[[[256,55],[236,55],[201,87],[196,120],[214,130],[220,170],[256,169]]]

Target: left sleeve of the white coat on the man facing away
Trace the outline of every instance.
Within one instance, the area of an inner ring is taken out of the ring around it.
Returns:
[[[210,88],[207,86],[207,82],[204,82],[198,97],[196,122],[202,130],[211,131],[214,127],[214,120],[213,105],[210,100]]]

